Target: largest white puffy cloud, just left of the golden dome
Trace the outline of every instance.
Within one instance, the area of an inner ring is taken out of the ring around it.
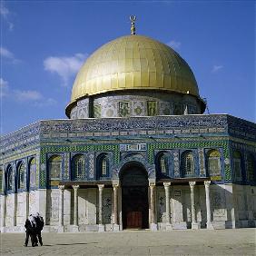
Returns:
[[[74,54],[74,56],[50,56],[44,60],[44,70],[58,74],[67,86],[70,77],[78,72],[87,54]]]

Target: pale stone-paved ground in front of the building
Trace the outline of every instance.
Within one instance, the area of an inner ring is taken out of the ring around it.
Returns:
[[[256,255],[256,229],[43,233],[42,247],[24,239],[1,233],[0,255]]]

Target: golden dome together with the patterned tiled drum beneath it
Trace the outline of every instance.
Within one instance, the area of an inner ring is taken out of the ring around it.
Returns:
[[[69,118],[203,113],[190,66],[166,44],[142,35],[104,44],[74,81]]]

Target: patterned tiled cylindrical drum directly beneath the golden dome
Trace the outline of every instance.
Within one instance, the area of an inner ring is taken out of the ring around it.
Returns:
[[[76,119],[194,113],[202,113],[202,106],[193,95],[129,90],[84,97],[72,105],[67,115]]]

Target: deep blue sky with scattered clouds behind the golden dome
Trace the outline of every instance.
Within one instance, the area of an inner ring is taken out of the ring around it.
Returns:
[[[210,113],[255,122],[254,1],[1,1],[1,133],[66,118],[88,54],[136,32],[192,67]]]

